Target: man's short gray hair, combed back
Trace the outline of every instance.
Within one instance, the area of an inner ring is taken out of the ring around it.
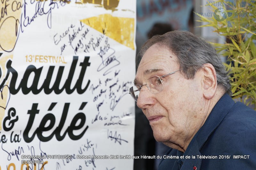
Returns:
[[[171,31],[164,35],[156,35],[141,47],[136,59],[137,66],[144,53],[154,44],[167,47],[177,56],[181,72],[187,79],[193,79],[204,64],[212,64],[217,74],[217,84],[232,96],[228,71],[215,49],[203,38],[188,31]]]

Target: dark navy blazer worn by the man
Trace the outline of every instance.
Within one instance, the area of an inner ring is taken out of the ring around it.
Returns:
[[[256,111],[225,94],[187,150],[170,149],[166,155],[179,159],[162,159],[158,170],[255,170]]]

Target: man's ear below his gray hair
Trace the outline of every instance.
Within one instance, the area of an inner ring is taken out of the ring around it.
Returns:
[[[203,95],[206,99],[211,99],[217,89],[217,75],[215,68],[210,63],[206,63],[203,66]]]

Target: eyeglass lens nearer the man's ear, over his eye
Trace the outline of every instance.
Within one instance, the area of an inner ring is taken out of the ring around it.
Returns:
[[[153,93],[159,93],[163,90],[163,80],[160,79],[158,76],[150,77],[147,80],[147,87]]]

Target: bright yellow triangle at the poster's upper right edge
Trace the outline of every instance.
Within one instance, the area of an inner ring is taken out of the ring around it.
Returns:
[[[81,22],[134,50],[134,18],[103,14],[82,19]]]

